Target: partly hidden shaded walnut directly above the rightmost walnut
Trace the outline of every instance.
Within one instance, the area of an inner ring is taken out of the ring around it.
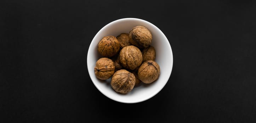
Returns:
[[[143,48],[141,53],[143,62],[146,62],[147,60],[155,60],[155,48],[153,46],[149,45],[148,47]]]

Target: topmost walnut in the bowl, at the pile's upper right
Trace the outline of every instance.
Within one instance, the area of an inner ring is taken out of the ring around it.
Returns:
[[[129,32],[129,37],[131,44],[139,48],[148,47],[152,42],[152,34],[144,26],[133,27]]]

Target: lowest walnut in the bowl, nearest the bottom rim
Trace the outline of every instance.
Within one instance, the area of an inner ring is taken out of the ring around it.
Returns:
[[[131,72],[122,69],[114,73],[110,84],[116,92],[128,93],[135,85],[135,76]]]

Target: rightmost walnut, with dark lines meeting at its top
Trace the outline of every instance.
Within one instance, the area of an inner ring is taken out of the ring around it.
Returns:
[[[138,70],[138,78],[143,83],[152,83],[158,79],[160,75],[160,67],[157,62],[148,60],[143,62]]]

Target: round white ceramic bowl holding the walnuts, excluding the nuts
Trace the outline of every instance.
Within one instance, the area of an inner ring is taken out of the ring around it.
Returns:
[[[135,86],[129,93],[120,94],[112,89],[110,85],[111,78],[104,81],[97,79],[95,76],[94,67],[96,61],[101,58],[97,51],[97,45],[104,36],[118,36],[120,33],[129,33],[133,27],[138,25],[147,27],[152,33],[153,40],[150,45],[152,45],[156,51],[155,61],[160,66],[160,76],[151,84],[141,83],[138,86]],[[92,39],[87,54],[87,67],[93,84],[108,98],[122,103],[138,103],[155,96],[161,89],[163,89],[170,78],[172,64],[173,57],[171,46],[164,33],[150,22],[137,18],[119,19],[104,26]]]

